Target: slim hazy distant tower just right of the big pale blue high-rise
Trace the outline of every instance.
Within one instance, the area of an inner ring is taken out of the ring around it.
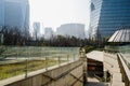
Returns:
[[[32,27],[34,27],[34,38],[37,40],[38,38],[41,37],[40,23],[39,23],[39,22],[34,23],[34,24],[32,24]]]

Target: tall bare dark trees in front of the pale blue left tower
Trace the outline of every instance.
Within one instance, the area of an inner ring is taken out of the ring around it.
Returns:
[[[17,27],[2,27],[1,34],[3,34],[3,45],[24,45],[30,40],[29,32],[21,30]]]

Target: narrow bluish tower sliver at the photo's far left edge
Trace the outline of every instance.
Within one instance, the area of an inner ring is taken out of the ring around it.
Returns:
[[[4,1],[0,0],[0,30],[4,26]]]

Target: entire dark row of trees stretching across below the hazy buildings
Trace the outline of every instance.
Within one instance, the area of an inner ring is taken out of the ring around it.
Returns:
[[[91,39],[79,39],[75,37],[56,35],[50,40],[43,37],[32,40],[29,37],[28,30],[20,30],[18,28],[3,27],[0,33],[3,34],[3,45],[35,45],[35,46],[86,46],[91,45],[94,47],[102,47],[106,44],[106,40],[94,41]]]

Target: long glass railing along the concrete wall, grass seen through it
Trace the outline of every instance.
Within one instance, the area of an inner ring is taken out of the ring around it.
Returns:
[[[0,80],[79,59],[79,47],[0,46]]]

